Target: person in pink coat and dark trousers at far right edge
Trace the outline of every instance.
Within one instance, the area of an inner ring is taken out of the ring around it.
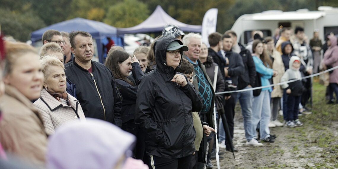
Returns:
[[[330,69],[332,67],[338,66],[338,46],[337,46],[337,37],[334,35],[329,35],[327,37],[328,50],[324,53],[323,58],[323,68]],[[333,99],[333,92],[336,93],[336,102]],[[330,100],[328,104],[336,103],[338,104],[338,69],[330,71]]]

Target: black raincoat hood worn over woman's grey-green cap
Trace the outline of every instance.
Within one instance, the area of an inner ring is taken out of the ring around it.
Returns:
[[[171,37],[169,35],[166,35],[164,37],[160,37],[157,39],[154,43],[154,55],[155,55],[155,61],[156,61],[156,69],[160,69],[163,72],[169,74],[169,75],[174,75],[176,73],[177,68],[181,65],[182,62],[182,54],[181,53],[181,60],[179,62],[179,65],[176,67],[174,70],[173,67],[167,66],[166,63],[166,53],[167,53],[167,47],[172,41],[177,41],[180,45],[183,45],[182,41]]]

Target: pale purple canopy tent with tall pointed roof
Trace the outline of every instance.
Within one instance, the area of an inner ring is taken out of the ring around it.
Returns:
[[[154,12],[142,23],[129,27],[129,28],[118,28],[118,34],[126,33],[147,33],[147,32],[162,32],[163,27],[166,24],[174,24],[179,26],[183,31],[186,32],[201,32],[201,25],[188,25],[179,22],[168,15],[160,5],[157,5]]]

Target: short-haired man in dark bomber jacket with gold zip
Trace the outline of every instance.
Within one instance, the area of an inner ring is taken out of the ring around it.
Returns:
[[[65,65],[67,77],[76,85],[76,96],[86,117],[111,122],[119,127],[122,97],[112,72],[92,61],[94,45],[88,32],[69,35],[74,58]]]

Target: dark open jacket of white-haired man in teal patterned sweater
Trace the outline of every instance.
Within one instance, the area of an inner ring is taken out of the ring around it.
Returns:
[[[185,55],[184,53],[183,53],[183,58],[189,60],[188,56]],[[197,64],[198,64],[199,68],[202,69],[204,77],[208,80],[208,82],[210,84],[210,89],[212,90],[212,103],[211,103],[211,107],[210,107],[210,109],[209,109],[209,111],[207,113],[204,112],[202,114],[207,114],[207,121],[206,122],[209,124],[210,127],[215,128],[214,118],[213,118],[213,115],[214,115],[214,104],[215,104],[215,92],[214,92],[214,88],[212,86],[212,81],[211,81],[211,79],[209,78],[209,76],[207,74],[206,67],[198,59],[197,59]],[[192,84],[194,85],[195,89],[198,91],[198,81],[194,80],[192,82]]]

